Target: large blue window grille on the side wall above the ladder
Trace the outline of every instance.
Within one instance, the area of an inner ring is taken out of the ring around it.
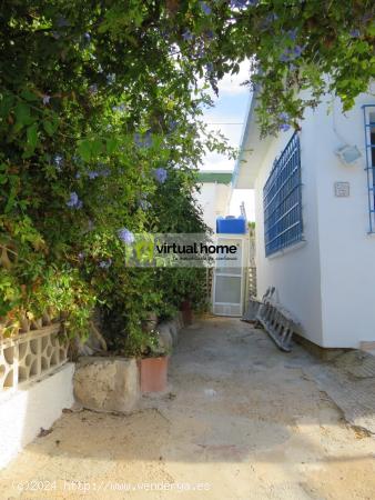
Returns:
[[[294,133],[263,188],[265,254],[303,239],[300,138]]]

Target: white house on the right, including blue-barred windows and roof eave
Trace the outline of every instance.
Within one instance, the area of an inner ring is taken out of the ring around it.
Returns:
[[[257,296],[323,348],[375,349],[375,98],[327,97],[302,130],[260,139],[253,96],[234,188],[255,190]],[[372,147],[373,144],[373,147]]]

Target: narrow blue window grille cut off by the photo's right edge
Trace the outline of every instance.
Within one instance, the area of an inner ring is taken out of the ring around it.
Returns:
[[[363,106],[369,232],[375,232],[375,104]]]

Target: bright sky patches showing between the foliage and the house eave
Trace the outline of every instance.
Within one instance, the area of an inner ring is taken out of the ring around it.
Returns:
[[[204,121],[211,130],[220,130],[230,146],[240,147],[242,130],[246,119],[246,111],[251,92],[249,87],[241,83],[249,79],[249,62],[241,64],[239,74],[225,76],[219,84],[219,98],[214,97],[214,107],[206,109]],[[220,124],[217,124],[220,123]],[[235,160],[225,156],[209,153],[202,170],[233,170]],[[251,189],[234,189],[230,207],[231,216],[240,214],[240,203],[244,201],[249,220],[254,220],[254,193]]]

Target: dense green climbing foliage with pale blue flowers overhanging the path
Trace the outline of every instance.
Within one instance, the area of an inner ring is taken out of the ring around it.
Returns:
[[[195,170],[206,149],[226,151],[201,122],[205,90],[244,59],[256,70],[249,83],[261,88],[263,132],[298,127],[326,89],[348,109],[374,74],[372,9],[366,0],[3,1],[0,316],[51,306],[70,331],[84,331],[101,304],[132,342],[148,312],[168,317],[185,297],[201,306],[202,270],[128,269],[119,230],[204,231]]]

